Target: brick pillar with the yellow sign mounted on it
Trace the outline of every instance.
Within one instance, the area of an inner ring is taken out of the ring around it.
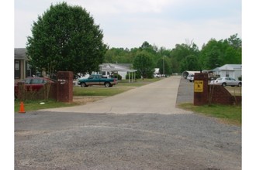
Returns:
[[[194,105],[208,104],[208,74],[195,73],[194,76]]]

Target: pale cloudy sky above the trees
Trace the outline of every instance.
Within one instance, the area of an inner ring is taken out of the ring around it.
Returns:
[[[15,0],[15,47],[25,47],[31,26],[55,0]],[[66,0],[85,8],[103,30],[109,47],[158,47],[241,37],[241,0]]]

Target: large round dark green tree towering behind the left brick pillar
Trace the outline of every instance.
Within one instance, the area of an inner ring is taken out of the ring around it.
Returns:
[[[62,2],[50,5],[33,22],[26,49],[37,70],[85,73],[99,70],[107,50],[102,39],[102,30],[85,8]]]

